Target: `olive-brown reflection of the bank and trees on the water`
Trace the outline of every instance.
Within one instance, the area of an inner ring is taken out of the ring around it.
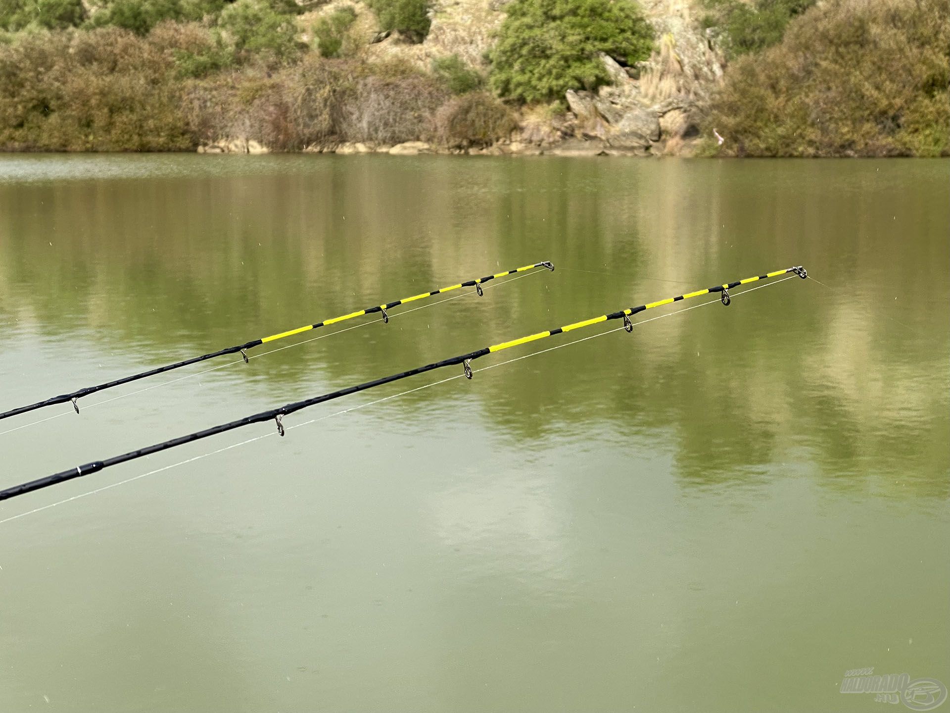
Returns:
[[[7,185],[0,310],[153,364],[526,261],[613,273],[527,278],[242,373],[280,394],[314,370],[346,384],[804,263],[841,287],[789,281],[491,370],[465,393],[526,445],[667,433],[691,485],[755,480],[804,445],[828,487],[946,497],[940,165],[305,158],[262,159],[287,162],[274,174]]]

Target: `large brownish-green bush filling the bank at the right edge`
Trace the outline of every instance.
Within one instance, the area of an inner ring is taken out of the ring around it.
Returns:
[[[950,154],[945,0],[829,0],[740,58],[706,120],[733,156]]]

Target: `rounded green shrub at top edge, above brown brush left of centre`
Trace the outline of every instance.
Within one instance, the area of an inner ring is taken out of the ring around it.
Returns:
[[[223,29],[238,55],[266,54],[278,62],[296,57],[300,46],[291,15],[277,12],[261,0],[237,0],[221,11]]]

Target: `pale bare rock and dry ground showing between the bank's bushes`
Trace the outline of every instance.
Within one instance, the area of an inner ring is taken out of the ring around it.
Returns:
[[[338,154],[419,153],[503,155],[555,153],[570,156],[683,155],[698,142],[698,126],[712,87],[722,78],[724,60],[712,38],[691,17],[697,0],[639,0],[656,31],[656,48],[649,60],[622,67],[601,55],[610,84],[596,91],[571,90],[564,100],[569,110],[555,106],[520,109],[519,128],[496,145],[452,149],[424,142],[400,145],[334,143],[304,150]],[[485,70],[486,50],[504,20],[506,0],[433,0],[428,37],[408,44],[398,32],[381,33],[375,15],[360,0],[330,0],[301,15],[302,27],[341,5],[352,5],[357,21],[352,36],[369,60],[397,58],[428,69],[436,57],[458,55],[468,65]],[[303,39],[309,39],[307,32]],[[428,136],[420,135],[427,139]],[[266,153],[254,141],[232,139],[202,146],[207,153]]]

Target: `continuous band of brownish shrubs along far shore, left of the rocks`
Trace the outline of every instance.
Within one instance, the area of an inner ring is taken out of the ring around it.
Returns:
[[[515,125],[491,95],[453,96],[451,72],[318,52],[291,61],[297,43],[280,40],[280,27],[241,35],[250,24],[242,3],[230,6],[239,14],[229,40],[165,21],[144,36],[35,31],[0,45],[0,146],[161,151],[246,136],[274,150],[417,139],[467,147]]]

